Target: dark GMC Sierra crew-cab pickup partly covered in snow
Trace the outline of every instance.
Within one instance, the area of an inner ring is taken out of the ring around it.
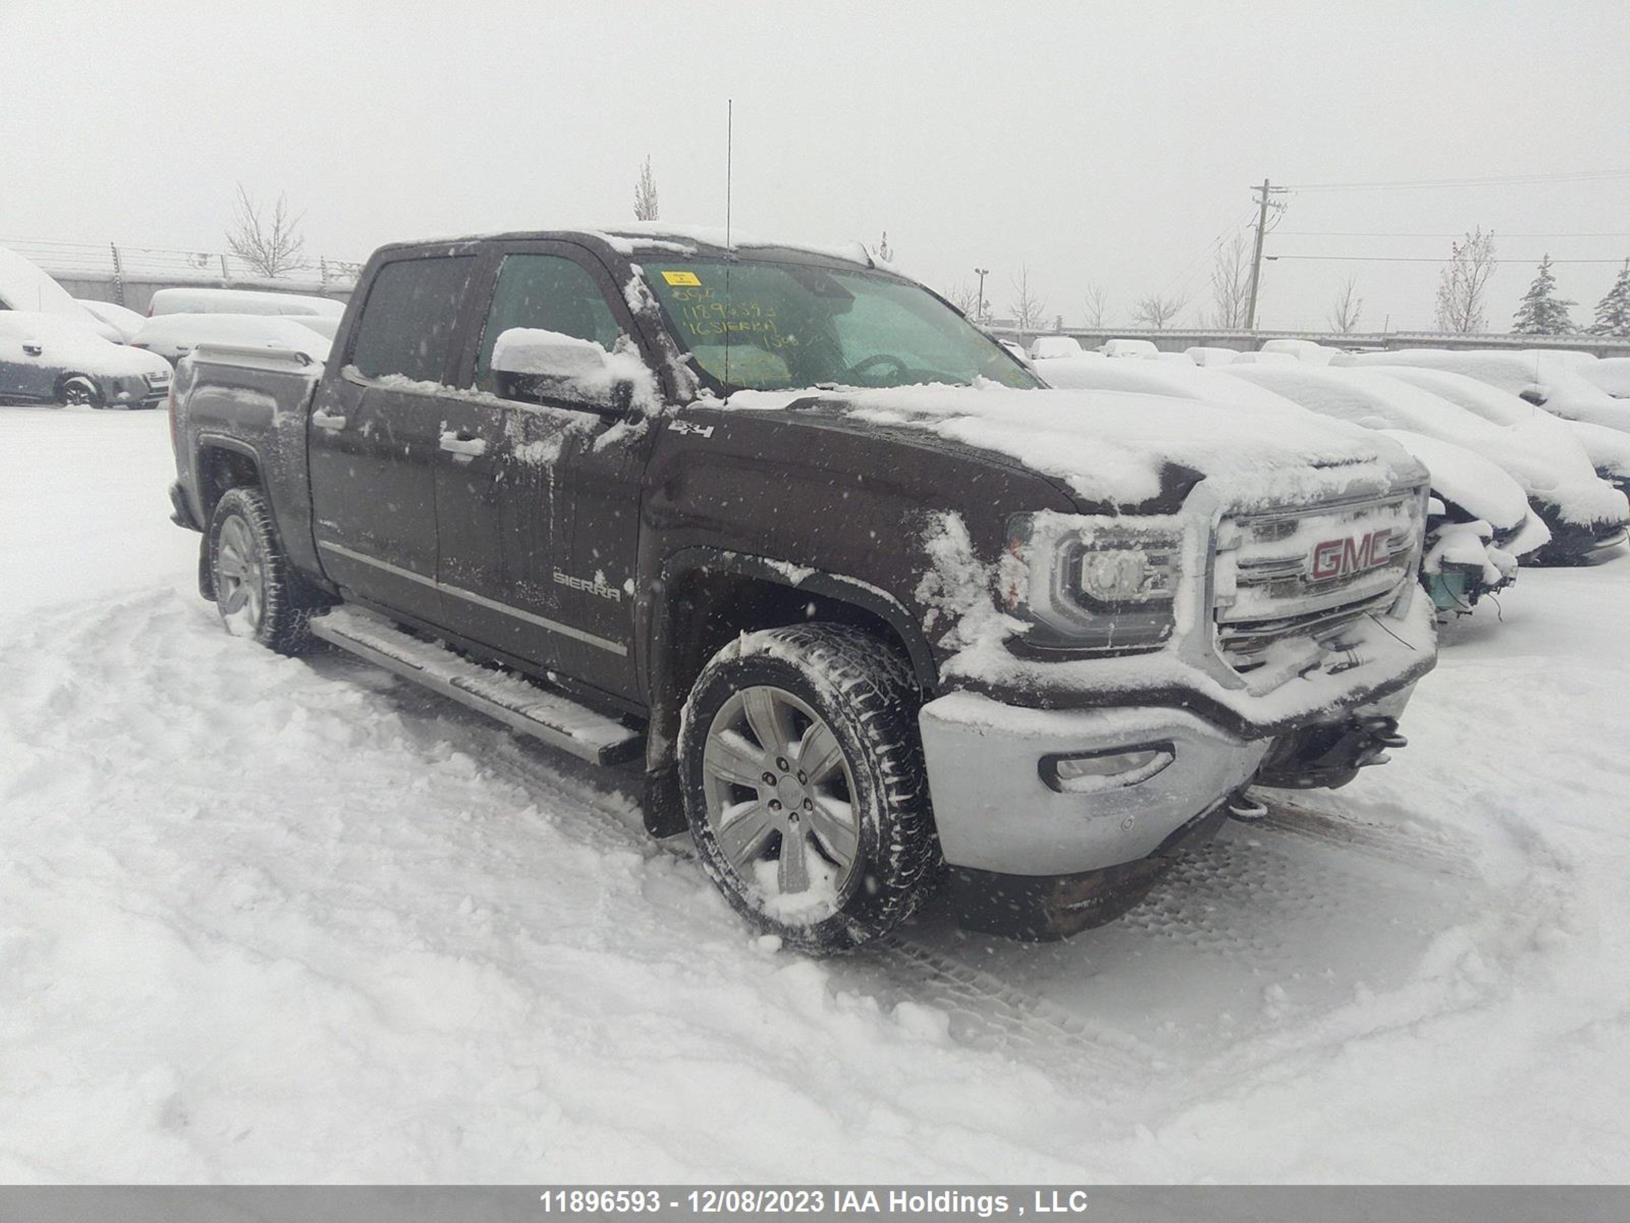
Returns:
[[[1055,391],[864,249],[396,245],[333,354],[200,346],[176,520],[228,631],[639,762],[729,902],[861,944],[1108,920],[1253,783],[1402,745],[1426,475],[1301,409]]]

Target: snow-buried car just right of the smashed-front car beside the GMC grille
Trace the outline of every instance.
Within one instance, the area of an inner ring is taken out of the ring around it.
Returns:
[[[1464,373],[1420,365],[1366,365],[1368,370],[1428,391],[1488,424],[1496,432],[1460,430],[1451,437],[1493,458],[1529,494],[1529,504],[1550,527],[1537,559],[1568,563],[1599,553],[1625,538],[1630,517],[1630,435],[1602,426],[1563,421],[1509,391]],[[1451,424],[1443,421],[1444,426]],[[1436,429],[1423,432],[1444,437]]]

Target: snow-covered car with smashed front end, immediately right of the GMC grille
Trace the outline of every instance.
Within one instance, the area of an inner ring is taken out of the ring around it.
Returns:
[[[1273,391],[1319,416],[1382,432],[1426,465],[1439,507],[1426,520],[1428,561],[1421,581],[1439,610],[1470,610],[1482,595],[1516,581],[1518,559],[1550,541],[1550,530],[1529,506],[1527,492],[1504,468],[1459,440],[1410,427],[1425,424],[1434,408],[1456,413],[1454,404],[1364,370],[1296,362],[1234,364],[1216,373]],[[1474,535],[1487,545],[1480,564],[1472,559]],[[1439,548],[1446,541],[1452,546]]]

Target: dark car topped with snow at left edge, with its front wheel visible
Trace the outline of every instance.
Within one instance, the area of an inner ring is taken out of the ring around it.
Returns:
[[[103,339],[90,323],[37,310],[0,310],[0,401],[156,408],[170,364]]]

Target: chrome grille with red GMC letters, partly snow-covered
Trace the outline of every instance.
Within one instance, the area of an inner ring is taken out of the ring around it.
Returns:
[[[1338,644],[1410,581],[1423,525],[1420,489],[1237,514],[1218,527],[1216,642],[1237,672],[1286,638]]]

